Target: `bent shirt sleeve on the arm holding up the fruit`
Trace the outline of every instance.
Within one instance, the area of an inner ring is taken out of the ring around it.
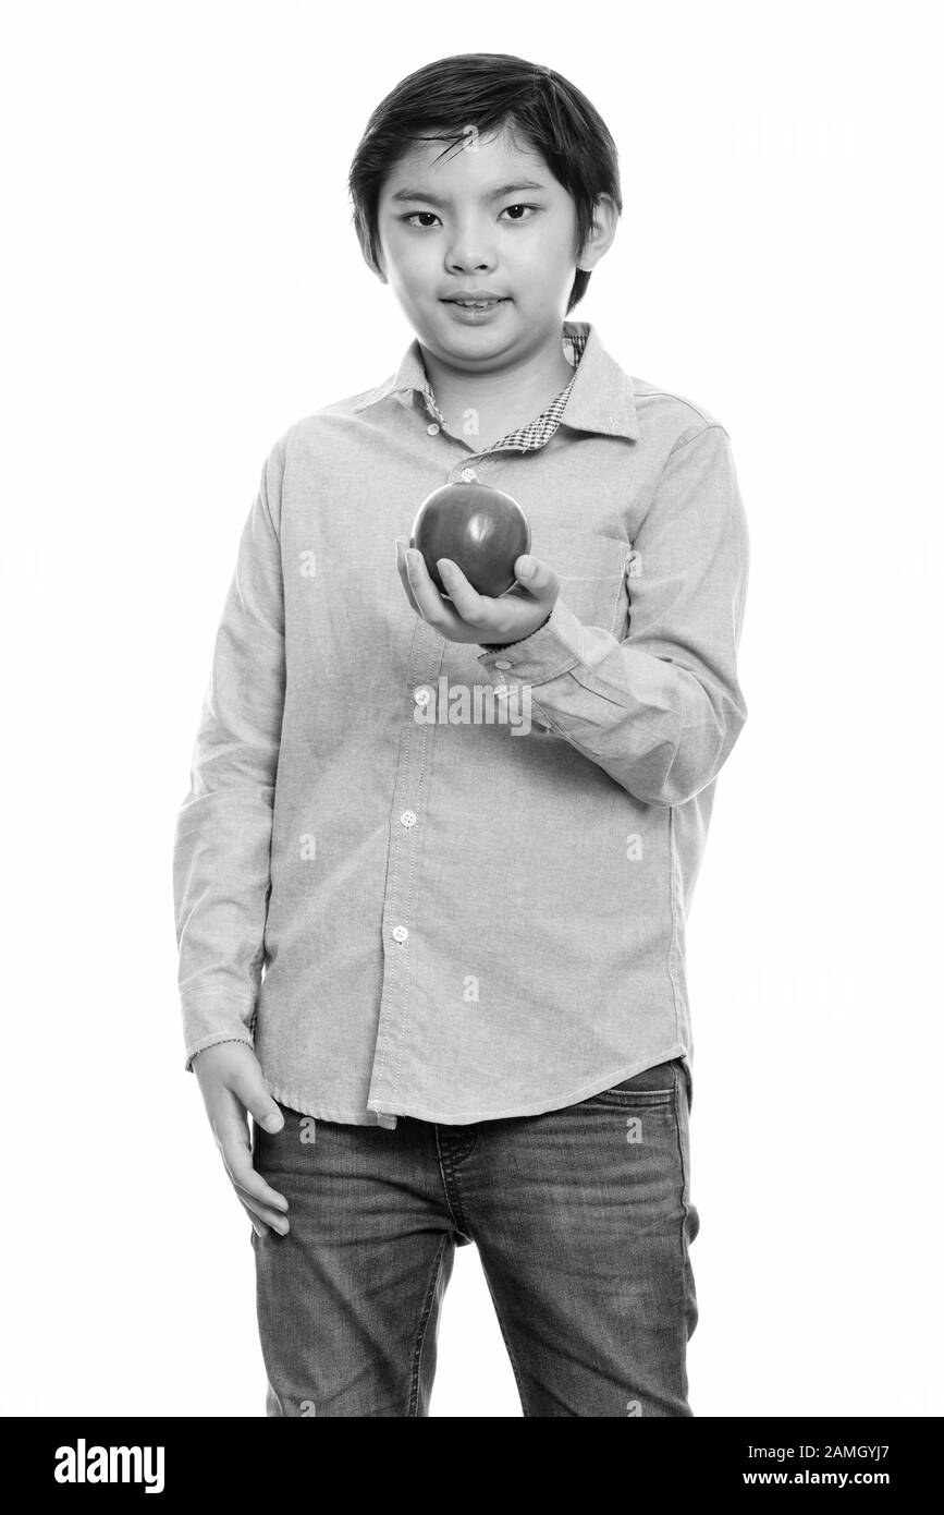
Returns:
[[[747,520],[717,421],[672,448],[632,550],[622,642],[558,598],[542,629],[480,662],[495,685],[529,686],[533,712],[629,794],[684,804],[747,720],[737,674]]]

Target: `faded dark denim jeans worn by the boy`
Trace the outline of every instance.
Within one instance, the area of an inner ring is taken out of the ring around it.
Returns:
[[[681,1059],[542,1115],[253,1126],[289,1232],[251,1232],[266,1415],[428,1415],[475,1242],[525,1415],[691,1415],[691,1085]]]

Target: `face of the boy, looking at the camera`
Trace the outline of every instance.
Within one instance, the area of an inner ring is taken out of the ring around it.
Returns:
[[[576,215],[539,153],[505,132],[470,133],[458,147],[418,142],[387,174],[377,218],[378,276],[442,361],[481,371],[560,338]],[[451,303],[463,289],[501,301],[466,314]]]

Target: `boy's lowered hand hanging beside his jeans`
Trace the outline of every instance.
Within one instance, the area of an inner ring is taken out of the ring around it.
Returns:
[[[277,1230],[284,1236],[289,1201],[269,1188],[253,1167],[247,1112],[268,1132],[284,1126],[281,1110],[265,1086],[256,1053],[245,1042],[216,1042],[197,1053],[194,1073],[222,1164],[256,1235],[266,1236],[269,1230]]]

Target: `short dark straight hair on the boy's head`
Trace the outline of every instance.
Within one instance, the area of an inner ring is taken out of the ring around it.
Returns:
[[[622,215],[616,144],[575,85],[510,53],[458,53],[401,79],[371,115],[354,153],[348,176],[352,221],[372,267],[378,267],[380,191],[393,165],[413,142],[464,142],[472,127],[480,136],[504,127],[517,145],[542,155],[575,203],[575,258],[592,229],[598,195],[611,195]],[[590,274],[578,268],[567,315],[588,282]]]

